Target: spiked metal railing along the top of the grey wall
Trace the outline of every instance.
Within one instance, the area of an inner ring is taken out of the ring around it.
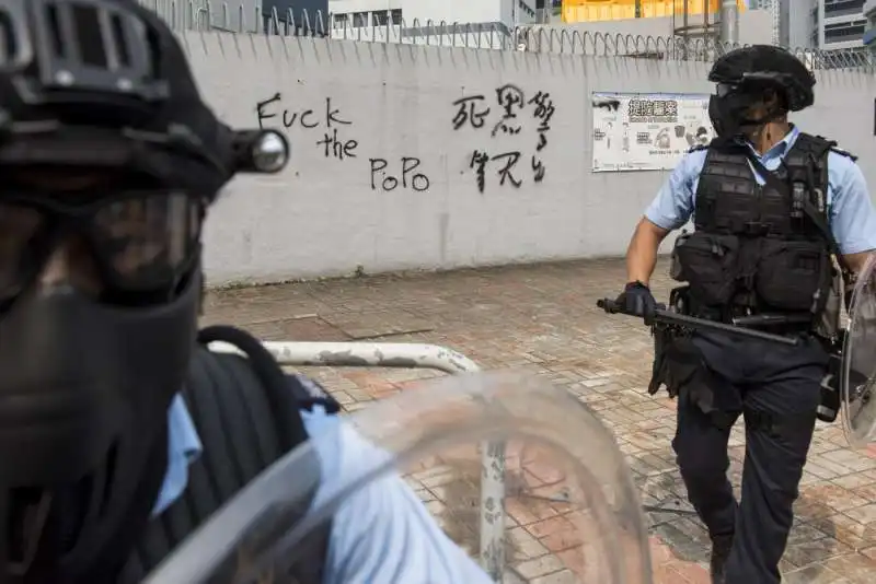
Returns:
[[[392,11],[370,17],[321,11],[262,11],[256,0],[240,3],[207,0],[139,0],[176,31],[223,31],[239,34],[316,37],[330,40],[399,43],[474,49],[514,50],[595,57],[630,57],[671,61],[711,61],[741,45],[707,38],[642,36],[580,32],[565,25],[508,27],[502,23],[462,24],[393,19]],[[876,71],[876,56],[865,47],[821,50],[789,49],[809,69]]]

